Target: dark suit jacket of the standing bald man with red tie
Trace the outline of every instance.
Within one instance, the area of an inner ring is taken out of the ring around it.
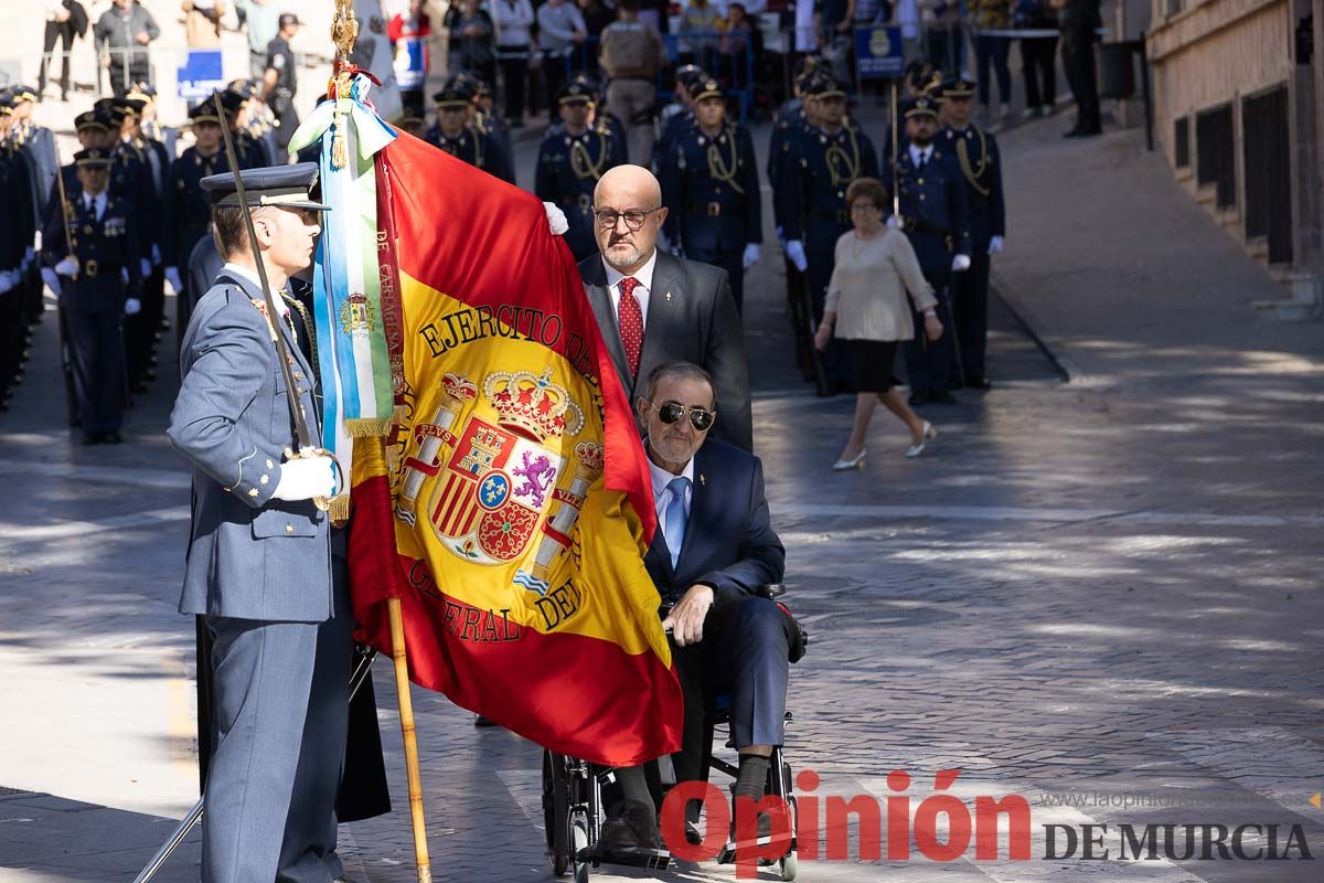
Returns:
[[[692,361],[712,375],[718,422],[712,426],[711,438],[752,451],[749,368],[745,365],[744,332],[727,271],[658,252],[637,379],[630,377],[625,361],[601,254],[592,254],[580,262],[580,277],[630,406],[643,395],[649,372],[655,367],[677,359]]]

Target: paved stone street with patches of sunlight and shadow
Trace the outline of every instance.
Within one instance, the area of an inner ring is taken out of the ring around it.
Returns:
[[[820,797],[883,800],[904,769],[914,813],[956,768],[968,806],[1033,808],[1030,860],[862,860],[853,838],[804,880],[1324,878],[1324,334],[1256,316],[1276,291],[1137,132],[1071,144],[1063,124],[1004,139],[996,267],[1071,383],[1000,303],[996,388],[931,406],[941,434],[918,461],[876,418],[866,467],[833,474],[851,402],[814,398],[789,364],[776,246],[749,285],[756,443],[813,635],[788,759]],[[50,320],[33,347],[0,417],[0,880],[131,880],[196,797],[173,368],[163,349],[131,443],[85,450],[62,426]],[[405,883],[389,666],[375,678],[397,809],[343,826],[343,854],[355,879]],[[548,879],[539,751],[413,698],[437,879]],[[1108,860],[1045,859],[1043,826],[1088,823],[1108,826]],[[1272,823],[1278,854],[1300,825],[1315,859],[1121,862],[1121,823]],[[197,863],[195,833],[156,879],[196,880]]]

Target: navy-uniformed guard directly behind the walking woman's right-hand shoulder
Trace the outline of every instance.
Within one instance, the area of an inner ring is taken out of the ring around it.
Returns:
[[[916,334],[903,352],[906,375],[910,381],[911,405],[927,402],[953,404],[955,344],[952,340],[951,287],[952,274],[970,266],[969,205],[965,195],[965,176],[948,146],[936,139],[937,102],[928,95],[907,99],[902,115],[906,120],[906,140],[896,158],[898,196],[900,218],[924,278],[933,286],[937,298],[943,336],[928,340]],[[925,311],[928,315],[928,311]],[[924,316],[912,316],[916,328],[924,327]]]

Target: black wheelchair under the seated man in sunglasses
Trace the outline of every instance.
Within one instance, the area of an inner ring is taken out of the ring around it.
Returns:
[[[785,593],[785,586],[780,584],[760,586],[755,594],[775,600]],[[665,610],[663,610],[665,613]],[[808,635],[805,637],[808,642]],[[785,723],[789,728],[794,718],[786,711]],[[715,707],[710,710],[706,720],[707,736],[704,739],[703,767],[708,772],[720,772],[730,777],[730,793],[735,792],[735,780],[739,767],[726,757],[712,752],[714,736],[724,735],[722,740],[726,748],[733,748],[731,740],[731,707],[730,696],[718,696]],[[665,794],[670,785],[675,784],[671,770],[671,759],[659,757],[647,764],[649,780],[658,792]],[[552,866],[555,876],[567,872],[573,874],[575,883],[588,883],[591,870],[598,870],[604,863],[604,857],[596,846],[601,834],[601,823],[606,812],[604,802],[604,789],[610,789],[616,777],[609,767],[591,764],[585,760],[568,757],[552,751],[543,749],[543,821],[547,834],[547,859]],[[768,782],[765,793],[781,798],[789,810],[790,838],[786,851],[768,863],[776,863],[782,880],[794,880],[798,871],[796,830],[800,821],[796,796],[792,790],[792,769],[786,763],[780,745],[773,747],[768,764]],[[658,802],[658,806],[662,804]],[[629,855],[613,854],[612,863],[643,867],[650,870],[666,870],[671,864],[671,854],[663,843],[658,849],[637,849]],[[735,843],[728,838],[716,857],[718,863],[730,864],[735,862]]]

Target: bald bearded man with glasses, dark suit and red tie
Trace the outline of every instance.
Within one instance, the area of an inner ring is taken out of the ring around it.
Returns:
[[[753,450],[749,369],[731,282],[720,267],[658,250],[666,221],[662,188],[641,165],[617,165],[593,191],[600,254],[580,263],[588,299],[630,401],[665,361],[685,360],[712,376],[716,438]]]

